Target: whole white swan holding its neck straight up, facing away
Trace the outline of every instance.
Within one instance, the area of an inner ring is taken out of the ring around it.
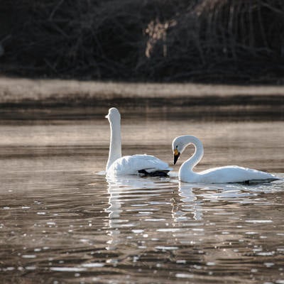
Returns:
[[[120,114],[115,107],[106,116],[111,127],[107,175],[167,175],[172,168],[153,155],[126,155],[121,157]]]

